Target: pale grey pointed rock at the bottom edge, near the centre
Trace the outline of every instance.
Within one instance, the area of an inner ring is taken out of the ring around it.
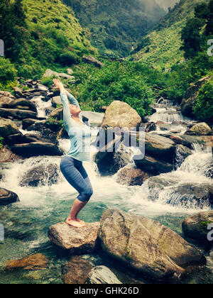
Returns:
[[[120,280],[114,275],[106,266],[94,267],[87,277],[87,283],[93,285],[119,285],[122,284]]]

